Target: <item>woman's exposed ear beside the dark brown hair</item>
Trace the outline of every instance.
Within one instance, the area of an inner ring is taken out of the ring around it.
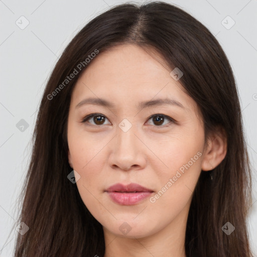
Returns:
[[[209,171],[216,168],[227,153],[227,137],[222,127],[218,127],[215,132],[210,133],[207,146],[204,151],[202,170]]]

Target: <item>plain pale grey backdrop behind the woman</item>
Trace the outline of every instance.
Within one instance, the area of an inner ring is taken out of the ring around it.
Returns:
[[[31,155],[29,142],[50,72],[65,46],[89,20],[125,2],[0,1],[0,256],[13,256],[15,234],[10,232],[18,218],[17,201]],[[166,2],[175,4],[203,23],[215,35],[231,63],[253,169],[253,205],[248,226],[256,254],[257,1]]]

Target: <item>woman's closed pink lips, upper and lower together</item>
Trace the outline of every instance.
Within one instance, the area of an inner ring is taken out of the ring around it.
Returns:
[[[118,183],[109,187],[106,192],[115,203],[133,205],[149,197],[154,191],[135,183]]]

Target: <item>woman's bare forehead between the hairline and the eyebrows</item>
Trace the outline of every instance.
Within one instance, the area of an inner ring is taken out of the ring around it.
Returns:
[[[185,108],[195,109],[194,100],[163,64],[160,56],[135,45],[120,45],[100,52],[78,79],[72,101],[77,104],[89,96],[107,98],[117,105],[135,105],[170,97]]]

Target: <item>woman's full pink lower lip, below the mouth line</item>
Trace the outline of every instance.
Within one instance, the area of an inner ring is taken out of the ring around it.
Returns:
[[[120,192],[107,192],[109,197],[118,204],[121,205],[133,205],[136,204],[147,197],[149,197],[152,192],[137,192],[137,193],[120,193]]]

